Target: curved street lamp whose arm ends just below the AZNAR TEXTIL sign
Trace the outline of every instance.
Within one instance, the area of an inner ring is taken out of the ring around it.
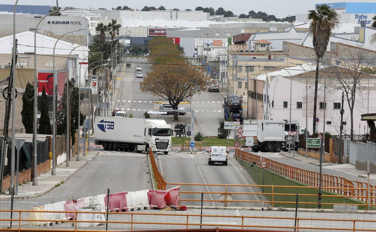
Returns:
[[[55,147],[55,144],[56,144],[56,84],[57,84],[57,78],[55,79],[55,48],[56,48],[56,44],[58,43],[58,41],[64,36],[64,35],[67,35],[69,33],[73,33],[73,32],[79,32],[80,30],[87,30],[87,29],[78,29],[78,30],[73,30],[73,31],[70,31],[70,32],[67,32],[67,33],[64,33],[63,35],[61,35],[55,42],[55,45],[53,46],[53,126],[52,126],[52,171],[51,171],[51,175],[52,176],[56,176],[56,162],[55,162],[55,158],[56,158],[56,147]],[[68,96],[67,96],[68,97]]]

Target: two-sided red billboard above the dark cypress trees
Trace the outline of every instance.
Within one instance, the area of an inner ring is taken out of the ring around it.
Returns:
[[[58,99],[61,98],[64,91],[64,84],[67,80],[67,72],[58,73]],[[47,95],[53,95],[53,74],[38,73],[38,95],[42,94],[43,86]]]

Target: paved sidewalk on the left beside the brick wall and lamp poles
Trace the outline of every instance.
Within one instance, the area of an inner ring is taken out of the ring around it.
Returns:
[[[32,181],[19,185],[18,195],[15,195],[14,199],[35,198],[49,193],[49,191],[58,187],[62,182],[64,183],[65,180],[85,166],[85,164],[91,161],[97,154],[97,151],[88,152],[88,156],[82,156],[80,154],[80,161],[76,161],[76,157],[72,156],[70,167],[65,166],[66,162],[56,166],[56,176],[51,175],[52,170],[40,174],[38,176],[38,186],[33,186]],[[5,192],[9,193],[9,191]],[[11,195],[0,194],[0,200],[10,198]]]

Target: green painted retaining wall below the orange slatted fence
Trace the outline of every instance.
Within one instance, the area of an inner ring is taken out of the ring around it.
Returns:
[[[249,162],[243,161],[239,158],[237,160],[246,168],[246,170],[251,174],[253,179],[258,185],[262,185],[262,168],[258,166],[251,167]],[[264,185],[284,185],[284,186],[308,186],[300,182],[296,182],[287,177],[281,176],[277,173],[265,170]],[[265,187],[264,193],[271,193],[271,187]],[[280,196],[275,195],[276,193],[288,193],[294,194],[292,196]],[[322,195],[337,195],[327,191],[321,191]],[[296,194],[318,194],[318,189],[315,188],[276,188],[274,187],[274,201],[284,201],[284,202],[296,202]],[[268,200],[271,200],[271,195],[264,195]],[[311,205],[305,202],[318,202],[317,196],[299,196],[299,208],[317,208],[317,204]],[[346,197],[323,197],[321,203],[349,203],[349,204],[364,204],[360,200],[354,200]],[[274,203],[274,207],[284,206],[286,208],[295,208],[295,203]],[[333,205],[321,204],[323,209],[332,209]],[[372,207],[373,209],[376,209]],[[358,209],[365,209],[365,206],[358,206]]]

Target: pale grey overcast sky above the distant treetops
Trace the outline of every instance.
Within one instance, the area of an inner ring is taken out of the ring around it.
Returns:
[[[372,2],[373,0],[352,0],[350,2]],[[15,2],[15,0],[0,0],[0,4],[10,4]],[[141,3],[142,2],[142,3]],[[210,2],[210,3],[209,3]],[[118,5],[127,5],[133,9],[141,9],[145,5],[159,7],[163,5],[166,9],[178,8],[180,10],[192,9],[194,10],[197,6],[202,7],[213,7],[218,9],[218,7],[223,7],[226,11],[232,11],[234,14],[240,15],[242,13],[247,14],[249,11],[253,10],[255,12],[262,11],[270,15],[275,15],[277,18],[283,18],[287,15],[298,15],[306,14],[308,10],[314,9],[315,3],[333,3],[333,2],[346,2],[346,1],[335,1],[335,0],[320,0],[318,2],[312,0],[215,0],[215,1],[205,1],[202,0],[189,0],[189,1],[179,1],[179,0],[143,0],[143,1],[119,1],[119,0],[59,0],[59,6],[73,6],[76,8],[116,8]],[[19,0],[19,5],[56,5],[56,0]],[[0,9],[1,11],[1,9]]]

